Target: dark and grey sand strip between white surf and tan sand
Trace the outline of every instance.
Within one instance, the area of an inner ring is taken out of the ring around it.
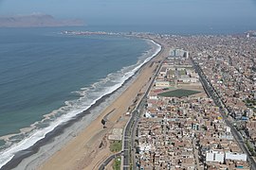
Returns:
[[[151,59],[155,59],[158,54],[156,54]],[[104,112],[103,110],[108,108],[107,106],[110,103],[113,103],[114,100],[117,100],[119,95],[122,95],[122,93],[125,92],[127,88],[129,88],[129,86],[134,83],[141,70],[144,69],[145,65],[147,65],[151,59],[143,63],[137,72],[133,76],[130,76],[128,79],[126,79],[122,86],[119,87],[119,89],[115,90],[113,93],[108,93],[102,96],[101,99],[93,104],[88,110],[83,110],[82,113],[72,118],[72,120],[67,121],[66,123],[47,133],[44,139],[38,141],[36,144],[33,144],[26,150],[15,154],[15,157],[13,157],[12,160],[4,165],[1,169],[9,169],[14,167],[16,169],[20,169],[21,167],[30,169],[31,167],[37,167],[39,164],[51,157],[54,152],[57,152],[60,149],[62,150],[62,147],[64,147],[65,144],[70,143],[69,141],[76,139],[76,136],[80,135],[80,131],[84,131],[87,129],[87,127],[89,128],[94,121],[101,117],[102,113],[99,114],[98,112]],[[87,114],[94,115],[94,117],[90,118],[90,120],[86,120]],[[54,148],[54,150],[52,150],[52,148]]]

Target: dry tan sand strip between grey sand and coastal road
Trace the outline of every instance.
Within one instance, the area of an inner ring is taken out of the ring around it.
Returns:
[[[108,133],[113,127],[125,126],[129,119],[125,113],[136,105],[135,101],[138,101],[139,97],[142,96],[139,93],[145,92],[148,88],[150,79],[152,79],[150,77],[154,75],[155,68],[159,64],[155,61],[168,55],[168,48],[164,44],[161,45],[163,47],[162,52],[140,69],[137,78],[129,87],[107,106],[88,127],[82,129],[76,137],[64,144],[59,151],[40,165],[39,169],[75,170],[99,168],[101,162],[112,154],[107,140]],[[103,128],[101,120],[109,112],[111,113],[107,116],[106,128]]]

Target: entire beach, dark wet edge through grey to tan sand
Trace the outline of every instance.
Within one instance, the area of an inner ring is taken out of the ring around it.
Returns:
[[[138,38],[152,39],[151,35],[140,36]],[[17,152],[2,169],[98,169],[103,161],[114,154],[110,150],[113,141],[108,137],[112,131],[125,127],[130,112],[136,109],[154,79],[152,77],[161,60],[168,56],[169,47],[162,39],[159,41],[155,37],[151,42],[154,41],[162,48],[155,44],[149,51],[150,58],[142,60],[144,64],[138,61],[140,65],[137,72],[133,72],[135,75],[129,75],[119,89],[105,94],[89,109],[80,110],[79,114],[55,127],[37,143]],[[102,122],[105,121],[103,126]],[[118,139],[121,139],[121,132]],[[112,165],[107,167],[111,169]]]

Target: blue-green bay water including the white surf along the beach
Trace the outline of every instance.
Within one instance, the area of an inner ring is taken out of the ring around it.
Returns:
[[[160,50],[149,40],[0,29],[0,168],[113,93]]]

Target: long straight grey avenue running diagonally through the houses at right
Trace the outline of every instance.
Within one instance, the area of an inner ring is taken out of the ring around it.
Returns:
[[[192,58],[191,58],[192,59]],[[255,160],[252,158],[250,152],[248,151],[247,145],[244,142],[244,138],[242,137],[241,133],[235,128],[233,127],[232,123],[229,121],[227,115],[229,116],[229,109],[227,108],[227,106],[225,105],[225,103],[222,101],[219,93],[216,92],[216,90],[213,88],[212,84],[210,83],[209,79],[207,78],[207,76],[205,76],[203,70],[201,69],[201,67],[198,65],[198,63],[196,63],[193,59],[192,59],[192,64],[193,67],[195,69],[195,71],[198,73],[198,75],[200,76],[202,85],[205,89],[205,91],[208,93],[208,95],[210,95],[210,97],[213,99],[214,103],[220,108],[220,112],[222,114],[222,117],[225,121],[225,123],[227,124],[227,126],[230,127],[231,129],[231,133],[234,137],[234,139],[236,140],[237,144],[240,146],[240,148],[242,149],[242,151],[247,154],[247,161],[249,162],[251,168],[253,170],[256,170],[256,162]]]

